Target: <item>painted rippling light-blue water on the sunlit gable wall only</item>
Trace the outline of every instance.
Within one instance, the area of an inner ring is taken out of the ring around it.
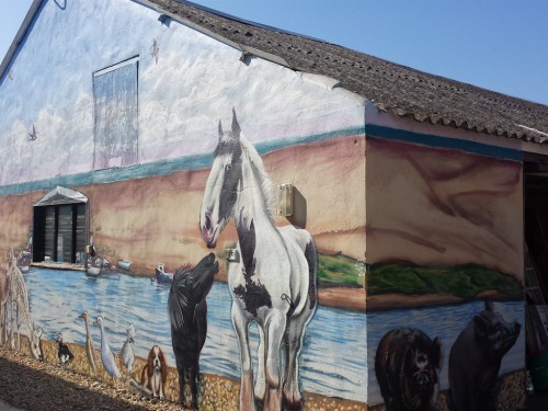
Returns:
[[[83,272],[33,267],[25,274],[31,317],[42,327],[45,339],[83,345],[85,329],[78,316],[88,310],[90,321],[104,317],[105,333],[114,353],[121,353],[126,328],[137,330],[135,354],[147,357],[158,344],[175,366],[168,317],[168,285],[150,277],[123,274],[85,276]],[[230,320],[231,297],[225,283],[215,283],[207,297],[207,340],[202,351],[201,372],[240,378],[240,354]],[[91,326],[91,324],[90,324]],[[90,327],[95,347],[99,328]],[[256,352],[258,332],[251,328],[251,347]],[[366,392],[365,315],[319,307],[308,326],[301,353],[302,389],[365,402]]]

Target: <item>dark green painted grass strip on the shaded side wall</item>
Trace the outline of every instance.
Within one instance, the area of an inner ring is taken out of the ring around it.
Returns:
[[[521,282],[507,274],[478,264],[429,267],[411,263],[372,264],[367,274],[368,295],[450,294],[473,299],[486,290],[495,290],[506,299],[522,299]]]

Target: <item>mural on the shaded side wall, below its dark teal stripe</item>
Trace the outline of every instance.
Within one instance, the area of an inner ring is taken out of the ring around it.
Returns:
[[[505,396],[523,392],[523,237],[520,218],[503,216],[521,209],[520,164],[373,137],[368,161],[379,202],[368,207],[369,407],[514,409]]]

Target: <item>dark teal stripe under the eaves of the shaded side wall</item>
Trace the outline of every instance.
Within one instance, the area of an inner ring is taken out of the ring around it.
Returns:
[[[504,160],[522,161],[522,151],[512,148],[495,147],[483,142],[467,141],[458,138],[438,137],[430,134],[413,133],[404,129],[367,124],[365,133],[370,137],[381,137],[390,140],[414,142],[430,147],[456,149],[476,155]]]

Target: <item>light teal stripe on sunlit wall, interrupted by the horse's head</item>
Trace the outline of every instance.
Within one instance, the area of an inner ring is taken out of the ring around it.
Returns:
[[[365,134],[364,127],[350,127],[330,133],[310,135],[306,137],[296,137],[283,140],[259,142],[255,145],[255,149],[259,151],[261,156],[264,156],[269,152],[279,150],[286,147],[315,142],[315,141],[323,141],[338,137],[346,137],[346,136],[355,136],[364,134]],[[144,179],[147,176],[155,176],[155,175],[167,175],[175,171],[205,169],[210,167],[212,163],[213,163],[213,153],[179,157],[175,159],[164,159],[138,165],[105,169],[99,171],[88,171],[84,173],[57,176],[53,179],[2,185],[0,186],[0,196],[24,194],[39,190],[48,191],[55,189],[57,185],[64,185],[70,187],[70,186],[89,185],[94,183],[99,184],[113,183],[116,181],[123,181],[129,179]]]

